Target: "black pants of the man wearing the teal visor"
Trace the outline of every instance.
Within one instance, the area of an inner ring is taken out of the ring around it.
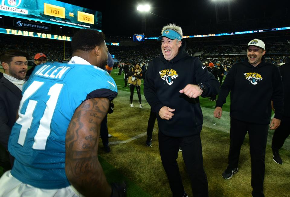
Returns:
[[[208,196],[208,180],[203,169],[202,148],[200,135],[188,137],[170,137],[158,132],[159,151],[164,170],[169,180],[173,197],[181,197],[184,192],[177,156],[179,146],[188,176],[191,180],[194,197]]]

